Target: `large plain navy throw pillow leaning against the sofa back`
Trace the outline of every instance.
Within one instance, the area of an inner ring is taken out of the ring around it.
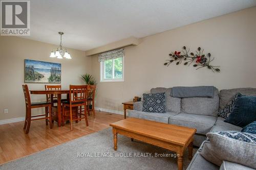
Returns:
[[[232,113],[224,122],[243,128],[254,121],[256,121],[256,96],[238,95]]]

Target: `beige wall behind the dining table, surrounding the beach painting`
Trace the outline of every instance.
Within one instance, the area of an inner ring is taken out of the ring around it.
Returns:
[[[25,116],[25,102],[22,91],[24,84],[24,59],[61,63],[61,85],[82,84],[80,75],[91,70],[91,58],[85,52],[68,49],[71,60],[50,58],[50,52],[57,45],[19,37],[0,36],[0,120]],[[45,84],[30,83],[29,89],[44,89]],[[33,102],[45,101],[45,95],[32,95]],[[4,109],[9,113],[4,114]],[[33,114],[44,109],[33,109]]]

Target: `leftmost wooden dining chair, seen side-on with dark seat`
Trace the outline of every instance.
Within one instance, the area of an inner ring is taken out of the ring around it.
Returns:
[[[30,124],[31,124],[32,120],[46,119],[47,125],[49,122],[50,128],[52,129],[52,114],[51,114],[52,105],[51,105],[51,103],[48,103],[48,102],[31,103],[28,85],[26,85],[26,84],[22,85],[22,88],[23,88],[23,92],[24,92],[24,96],[25,96],[25,104],[26,104],[26,116],[25,116],[25,124],[24,124],[24,128],[23,128],[25,130],[25,133],[26,134],[29,133]],[[33,108],[40,108],[40,107],[45,107],[45,108],[47,107],[49,109],[49,113],[50,113],[49,116],[48,116],[48,114],[41,114],[41,115],[35,115],[35,116],[31,115],[31,110]],[[45,117],[33,118],[33,117],[39,117],[39,116],[45,116]]]

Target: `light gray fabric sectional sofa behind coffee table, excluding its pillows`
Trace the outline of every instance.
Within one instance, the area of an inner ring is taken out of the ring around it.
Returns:
[[[227,103],[238,92],[245,95],[255,95],[256,88],[236,88],[219,90],[215,88],[214,97],[212,98],[173,98],[170,96],[172,88],[152,88],[151,93],[165,92],[166,95],[166,113],[148,113],[143,112],[143,103],[136,102],[134,110],[127,110],[130,117],[143,118],[174,124],[179,126],[196,128],[197,133],[194,137],[193,144],[200,147],[206,139],[206,133],[218,131],[241,131],[241,127],[234,126],[224,122],[224,118],[219,117],[218,111],[224,109]],[[215,164],[205,160],[198,152],[191,160],[188,168],[194,169],[220,169]],[[221,169],[251,169],[249,167],[223,161]]]

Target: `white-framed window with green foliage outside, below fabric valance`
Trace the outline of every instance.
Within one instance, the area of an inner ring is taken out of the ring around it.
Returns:
[[[100,62],[100,82],[123,82],[124,57]]]

